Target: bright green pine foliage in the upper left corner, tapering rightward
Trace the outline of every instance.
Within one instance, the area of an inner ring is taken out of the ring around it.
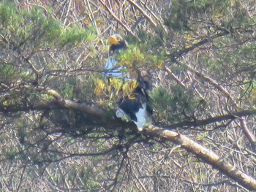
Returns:
[[[78,25],[63,28],[59,20],[45,15],[42,9],[27,11],[8,2],[0,4],[0,22],[1,44],[12,44],[14,48],[78,45],[92,33],[92,28],[88,32]]]

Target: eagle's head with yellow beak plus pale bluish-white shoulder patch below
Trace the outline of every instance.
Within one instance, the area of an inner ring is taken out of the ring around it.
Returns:
[[[119,34],[113,34],[108,38],[110,44],[108,60],[105,63],[105,73],[112,77],[123,77],[121,72],[121,66],[117,66],[117,61],[114,58],[115,54],[118,54],[119,50],[126,50],[127,42]]]

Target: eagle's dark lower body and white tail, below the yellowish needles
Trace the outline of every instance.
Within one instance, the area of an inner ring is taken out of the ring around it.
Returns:
[[[151,124],[151,115],[153,112],[148,96],[148,91],[152,89],[151,76],[146,70],[138,71],[137,81],[138,86],[132,92],[132,99],[126,96],[118,102],[116,116],[121,118],[125,113],[135,122],[138,131],[142,131],[143,126]]]

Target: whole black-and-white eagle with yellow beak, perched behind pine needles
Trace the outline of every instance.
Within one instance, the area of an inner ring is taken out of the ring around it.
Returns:
[[[118,54],[119,50],[126,50],[128,48],[127,42],[119,34],[113,34],[109,37],[108,42],[110,43],[109,55]],[[108,59],[108,67],[105,69],[113,69],[111,75],[115,77],[123,77],[119,71],[121,68],[115,68],[116,60]],[[132,97],[124,96],[118,101],[118,108],[116,109],[116,117],[122,118],[127,115],[133,120],[138,128],[138,131],[143,130],[143,126],[151,124],[152,109],[150,106],[150,97],[148,92],[152,89],[151,74],[146,70],[138,70],[135,74],[138,86],[132,92]],[[134,76],[134,75],[130,75]]]

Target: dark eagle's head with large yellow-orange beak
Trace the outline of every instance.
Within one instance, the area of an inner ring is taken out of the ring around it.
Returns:
[[[120,34],[113,34],[108,38],[110,44],[110,53],[114,53],[116,50],[125,50],[128,45],[127,42],[121,37]]]

